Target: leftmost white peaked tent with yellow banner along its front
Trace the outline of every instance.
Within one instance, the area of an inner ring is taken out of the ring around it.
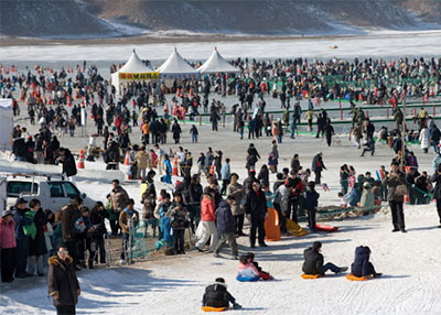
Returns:
[[[111,74],[111,85],[116,87],[117,94],[120,94],[121,84],[123,83],[159,79],[159,73],[152,72],[144,65],[133,50],[127,63],[119,70]]]

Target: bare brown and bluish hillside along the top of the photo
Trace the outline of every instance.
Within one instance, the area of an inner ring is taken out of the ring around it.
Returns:
[[[29,37],[154,35],[158,31],[363,34],[373,29],[440,29],[426,22],[441,21],[441,2],[435,0],[2,0],[0,6],[0,34]]]

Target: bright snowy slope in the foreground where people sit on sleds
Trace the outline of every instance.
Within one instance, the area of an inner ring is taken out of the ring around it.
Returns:
[[[390,215],[333,222],[335,233],[283,238],[256,259],[276,278],[271,282],[239,283],[237,262],[212,254],[187,253],[137,263],[132,268],[80,271],[78,314],[202,314],[204,286],[225,278],[243,304],[234,314],[440,314],[441,284],[437,250],[441,229],[433,205],[406,207],[408,233],[391,233]],[[381,279],[349,282],[343,275],[302,280],[304,248],[323,242],[325,261],[349,265],[354,249],[372,249]],[[248,251],[246,239],[239,240]],[[18,280],[0,286],[1,314],[53,314],[44,279]]]

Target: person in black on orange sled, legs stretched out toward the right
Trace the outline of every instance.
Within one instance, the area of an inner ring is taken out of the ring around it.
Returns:
[[[314,241],[312,247],[304,250],[302,271],[305,274],[320,274],[323,276],[327,270],[331,270],[334,273],[341,273],[347,270],[347,267],[336,267],[332,262],[327,262],[323,265],[323,254],[320,253],[321,249],[322,243],[320,241]]]

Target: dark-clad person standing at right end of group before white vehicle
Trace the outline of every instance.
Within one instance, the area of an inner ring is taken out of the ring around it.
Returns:
[[[95,243],[95,252],[99,251],[99,262],[106,263],[106,248],[104,237],[107,235],[105,219],[109,217],[101,202],[97,202],[90,213],[90,235],[92,242]],[[98,262],[98,256],[95,254],[95,262]]]

